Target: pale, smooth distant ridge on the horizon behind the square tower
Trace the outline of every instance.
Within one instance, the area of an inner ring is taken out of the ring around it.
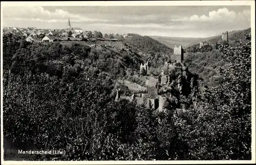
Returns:
[[[250,28],[249,28],[250,29]],[[247,30],[239,30],[239,31],[231,31],[228,32],[228,37],[230,40],[232,40],[232,36],[234,33],[241,33],[242,37],[236,36],[236,38],[244,38],[243,33],[246,33]],[[215,41],[221,39],[221,34],[218,36],[212,36],[207,38],[182,38],[182,37],[161,37],[161,36],[150,36],[153,39],[165,44],[166,46],[173,48],[175,45],[182,45],[183,48],[191,47],[191,46],[197,46],[200,42],[203,41],[210,41],[213,43],[216,43]]]

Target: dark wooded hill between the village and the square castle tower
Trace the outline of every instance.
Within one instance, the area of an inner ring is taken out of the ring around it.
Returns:
[[[134,51],[141,51],[143,53],[160,53],[171,54],[173,49],[165,44],[148,36],[140,36],[137,34],[130,34],[132,37],[122,39],[125,46],[130,47]]]

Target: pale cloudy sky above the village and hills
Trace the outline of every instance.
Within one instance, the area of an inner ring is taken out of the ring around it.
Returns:
[[[65,29],[102,34],[211,37],[250,28],[250,6],[5,6],[3,26]]]

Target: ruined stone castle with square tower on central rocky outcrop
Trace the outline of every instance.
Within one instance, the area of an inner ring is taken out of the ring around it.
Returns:
[[[182,67],[184,65],[183,62],[183,48],[180,45],[179,47],[174,47],[174,54],[171,57],[169,62],[164,62],[164,68],[159,76],[150,76],[149,79],[146,80],[145,85],[147,91],[144,92],[132,92],[132,96],[120,95],[119,90],[116,92],[115,101],[119,101],[121,99],[129,100],[130,102],[135,102],[137,105],[144,104],[147,108],[156,109],[159,112],[165,112],[166,108],[169,105],[169,98],[173,97],[168,91],[172,90],[169,86],[172,82],[170,75],[166,75],[164,69],[175,69],[177,63],[181,63]],[[149,73],[149,64],[148,62],[144,64],[140,64],[140,75],[146,76],[150,75]],[[148,82],[150,81],[150,82]],[[152,89],[153,88],[153,89]],[[177,85],[177,90],[181,92],[182,86]]]

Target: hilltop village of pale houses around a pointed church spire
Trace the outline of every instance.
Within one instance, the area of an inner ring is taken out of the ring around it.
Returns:
[[[103,40],[111,42],[120,41],[121,38],[129,38],[130,34],[114,35],[114,34],[104,34],[97,31],[84,31],[81,28],[76,28],[71,26],[70,18],[68,20],[68,25],[65,29],[37,29],[33,27],[28,28],[17,28],[9,27],[3,29],[4,34],[15,34],[25,37],[27,42],[55,42],[55,41],[81,41],[87,40]]]

